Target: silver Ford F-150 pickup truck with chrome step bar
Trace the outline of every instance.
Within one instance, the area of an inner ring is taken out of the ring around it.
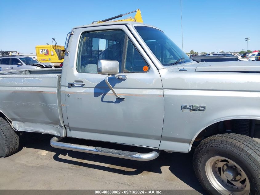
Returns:
[[[17,152],[23,131],[54,135],[55,148],[131,160],[192,150],[209,193],[260,194],[259,62],[193,61],[137,22],[75,27],[65,49],[62,69],[0,73],[0,156]],[[150,152],[60,141],[66,136]]]

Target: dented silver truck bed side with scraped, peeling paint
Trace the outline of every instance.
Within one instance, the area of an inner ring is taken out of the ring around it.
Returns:
[[[61,72],[61,68],[0,72],[0,112],[15,130],[65,136]]]

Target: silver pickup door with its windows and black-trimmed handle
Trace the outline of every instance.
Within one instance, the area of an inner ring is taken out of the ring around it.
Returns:
[[[158,148],[164,114],[161,78],[126,26],[75,29],[71,45],[78,50],[70,51],[67,67],[67,134]],[[127,78],[108,81],[124,101],[106,84],[107,75],[97,73],[99,59],[119,62],[118,75]]]

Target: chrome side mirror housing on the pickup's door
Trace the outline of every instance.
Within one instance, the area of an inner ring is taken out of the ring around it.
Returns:
[[[100,59],[98,60],[98,74],[117,75],[119,72],[119,62],[117,60]]]

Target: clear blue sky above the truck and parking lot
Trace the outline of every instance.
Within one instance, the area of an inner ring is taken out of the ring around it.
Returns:
[[[163,30],[182,46],[179,0],[44,0],[1,1],[0,49],[35,53],[36,45],[64,45],[74,26],[140,9],[144,23]],[[186,52],[260,49],[260,14],[257,0],[182,0],[183,46]],[[132,14],[134,16],[134,14]],[[128,17],[128,16],[127,16]]]

